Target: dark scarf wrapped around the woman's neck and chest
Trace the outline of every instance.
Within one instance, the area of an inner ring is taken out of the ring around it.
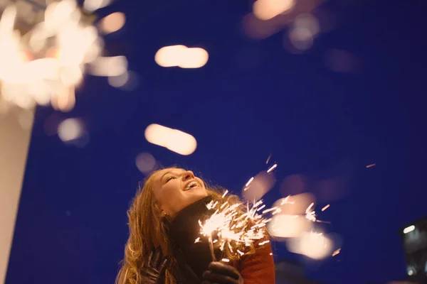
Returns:
[[[185,207],[169,224],[168,236],[179,265],[179,271],[176,271],[178,283],[201,283],[202,274],[213,261],[208,238],[200,235],[199,225],[199,220],[204,222],[214,213],[206,207],[211,200],[211,197],[204,197]],[[200,241],[194,243],[198,237]],[[216,259],[221,257],[221,251],[215,253]]]

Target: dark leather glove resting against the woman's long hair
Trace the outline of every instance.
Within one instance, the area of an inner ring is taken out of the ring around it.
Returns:
[[[148,256],[147,263],[142,268],[142,277],[144,284],[160,284],[162,283],[162,275],[166,269],[168,258],[162,257],[162,249],[157,248],[151,251]]]

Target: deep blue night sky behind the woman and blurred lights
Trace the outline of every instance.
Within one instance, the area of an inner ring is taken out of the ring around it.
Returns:
[[[321,33],[300,54],[283,47],[286,29],[248,38],[246,0],[122,0],[99,11],[126,13],[106,50],[127,56],[137,87],[126,92],[88,76],[73,111],[38,108],[6,283],[113,283],[126,210],[144,178],[139,153],[237,194],[271,154],[278,182],[265,202],[295,193],[280,184],[303,176],[303,190],[331,204],[320,219],[342,240],[338,256],[317,262],[275,243],[276,260],[305,262],[308,278],[331,284],[403,278],[399,229],[427,215],[422,3],[325,1],[313,12]],[[159,67],[154,54],[174,44],[206,49],[208,63]],[[331,69],[331,50],[350,56],[349,72]],[[84,147],[46,134],[46,119],[70,117],[85,122]],[[181,156],[148,143],[144,129],[153,123],[191,133],[198,148]]]

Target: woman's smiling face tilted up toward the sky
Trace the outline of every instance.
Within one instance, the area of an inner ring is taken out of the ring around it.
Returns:
[[[162,214],[174,218],[178,212],[208,196],[204,182],[191,170],[167,168],[155,173],[152,187]]]

